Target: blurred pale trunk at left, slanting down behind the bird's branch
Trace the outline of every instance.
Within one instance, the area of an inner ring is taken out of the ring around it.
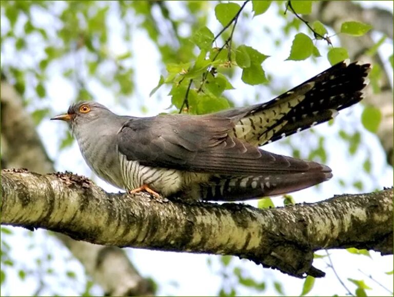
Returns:
[[[1,90],[2,168],[25,167],[42,174],[54,172],[53,162],[45,152],[22,99],[6,81],[1,82]],[[150,282],[141,277],[122,249],[78,242],[62,234],[55,235],[106,294],[153,295]]]

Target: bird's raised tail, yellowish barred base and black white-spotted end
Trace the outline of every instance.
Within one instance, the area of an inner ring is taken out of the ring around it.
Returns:
[[[234,119],[233,136],[263,145],[328,121],[362,100],[369,70],[369,64],[343,61],[269,102],[221,114]]]

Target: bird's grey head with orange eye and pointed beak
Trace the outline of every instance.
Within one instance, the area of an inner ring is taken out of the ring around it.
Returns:
[[[112,114],[109,109],[100,103],[83,101],[71,104],[66,114],[55,116],[51,120],[66,121],[70,124],[71,129],[74,130],[75,126],[91,123],[100,118],[105,119]]]

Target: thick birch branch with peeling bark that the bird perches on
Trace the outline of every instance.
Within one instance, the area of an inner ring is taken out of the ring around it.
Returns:
[[[296,277],[324,275],[312,266],[313,252],[322,248],[392,253],[392,189],[263,210],[108,194],[72,174],[11,169],[1,177],[3,224],[96,244],[232,254]]]

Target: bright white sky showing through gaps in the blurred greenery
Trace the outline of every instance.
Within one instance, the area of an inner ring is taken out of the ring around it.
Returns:
[[[59,4],[61,6],[62,4]],[[175,2],[171,2],[171,12],[174,14],[182,14],[183,11],[179,10],[178,5]],[[374,1],[363,2],[363,5],[380,5],[392,11],[392,2]],[[274,8],[270,8],[274,9]],[[1,21],[2,27],[7,24]],[[43,19],[37,17],[37,22],[41,24],[52,24],[50,19]],[[278,49],[273,46],[274,38],[261,38],[262,33],[259,29],[263,28],[266,24],[270,24],[270,28],[274,31],[274,28],[279,28],[283,19],[277,17],[274,13],[264,14],[263,17],[255,17],[252,20],[241,19],[243,25],[250,28],[251,36],[247,41],[247,45],[258,49],[264,54],[270,55],[263,66],[264,69],[272,75],[272,85],[275,89],[281,89],[281,84],[285,84],[285,88],[291,88],[298,83],[320,73],[329,67],[329,63],[325,58],[326,51],[322,46],[320,49],[322,58],[317,60],[317,63],[308,61],[293,62],[284,61],[288,54],[291,46],[291,39],[284,38],[278,32],[273,32],[278,38],[283,40],[282,46]],[[114,55],[122,54],[125,51],[125,43],[121,39],[119,33],[120,24],[119,20],[110,14],[108,24],[112,28],[112,34],[109,34],[112,39],[109,43],[111,48],[109,49]],[[56,26],[56,25],[55,25]],[[136,25],[135,25],[136,27]],[[220,30],[218,22],[214,19],[210,19],[208,26],[213,32]],[[237,30],[235,30],[237,34]],[[157,113],[165,111],[170,105],[170,97],[167,96],[168,89],[161,89],[156,92],[154,96],[149,98],[149,92],[153,87],[156,86],[157,81],[160,77],[160,69],[157,69],[157,65],[160,65],[160,56],[154,45],[151,43],[146,33],[143,30],[134,30],[132,40],[132,52],[133,52],[133,66],[135,69],[135,85],[137,86],[135,95],[130,98],[128,102],[128,109],[121,107],[116,104],[116,100],[113,94],[109,90],[104,89],[99,84],[91,82],[89,84],[90,90],[95,95],[95,100],[99,101],[112,111],[119,114],[129,114],[134,116],[151,116]],[[306,32],[306,31],[305,31]],[[237,35],[236,35],[237,37]],[[375,36],[376,40],[380,36]],[[338,39],[332,37],[334,45],[338,45]],[[320,44],[318,45],[320,46]],[[392,41],[388,40],[381,47],[381,52],[386,57],[392,54]],[[11,59],[13,52],[11,49],[4,54],[3,58]],[[37,53],[39,55],[39,53]],[[148,59],[146,57],[149,57]],[[51,102],[54,114],[60,114],[67,111],[68,105],[75,98],[74,87],[66,82],[58,69],[53,67],[50,82],[47,84],[47,101],[43,100],[37,104],[46,104]],[[266,101],[273,97],[267,87],[252,87],[245,85],[239,78],[240,75],[236,76],[237,79],[232,81],[233,86],[236,90],[226,93],[237,105],[255,103],[255,95],[259,95],[259,101]],[[284,89],[285,89],[284,88]],[[31,92],[31,91],[30,91]],[[278,95],[278,94],[274,94]],[[148,113],[142,114],[141,107],[145,105],[148,107]],[[356,158],[360,160],[360,164],[364,161],[367,156],[368,150],[373,152],[373,164],[372,168],[373,176],[375,180],[371,181],[369,176],[360,173],[360,167],[357,166],[344,166],[349,163],[349,156],[347,154],[347,146],[345,143],[338,142],[336,140],[338,130],[345,127],[346,131],[353,131],[353,129],[359,129],[360,117],[362,112],[361,105],[354,108],[345,110],[337,117],[333,126],[327,124],[319,125],[315,130],[319,135],[326,134],[326,143],[330,145],[326,147],[333,147],[335,149],[330,150],[328,155],[327,165],[333,169],[334,178],[322,184],[319,189],[309,188],[301,192],[295,193],[293,197],[297,202],[314,202],[332,197],[334,194],[341,193],[358,193],[359,190],[352,186],[340,187],[338,185],[338,179],[342,178],[348,183],[354,181],[354,176],[358,177],[363,181],[365,188],[364,192],[369,192],[375,188],[382,188],[383,186],[392,185],[392,167],[386,165],[386,162],[382,156],[384,156],[381,149],[380,143],[375,135],[372,135],[363,129],[362,133],[362,147],[363,150],[359,150]],[[99,180],[92,175],[90,169],[85,164],[77,144],[62,152],[58,152],[58,145],[60,143],[60,136],[63,135],[66,126],[59,122],[50,122],[49,119],[44,120],[38,131],[45,143],[45,147],[50,157],[55,160],[55,167],[58,171],[72,171],[76,174],[85,175],[93,178],[96,183],[102,186],[109,192],[117,192],[118,189],[109,186],[105,182]],[[48,137],[52,135],[53,137]],[[316,144],[317,139],[310,132],[301,133],[299,136],[292,137],[292,143],[300,145],[301,143],[308,143],[312,147]],[[278,143],[272,143],[264,147],[265,150],[275,151],[279,154],[291,154],[288,146]],[[306,157],[306,156],[304,156]],[[357,160],[356,159],[356,160]],[[276,198],[275,203],[281,205],[281,199]],[[255,205],[255,201],[251,201],[252,205]],[[23,263],[24,267],[34,269],[34,256],[38,256],[43,253],[43,249],[51,251],[54,256],[54,260],[49,264],[56,271],[59,271],[59,275],[62,275],[61,271],[73,270],[77,273],[77,279],[84,279],[84,272],[82,266],[76,261],[72,260],[69,256],[69,252],[61,247],[55,240],[49,239],[46,232],[38,230],[34,232],[33,242],[35,242],[39,248],[33,250],[29,249],[27,242],[30,239],[26,238],[26,231],[20,228],[13,228],[15,230],[15,236],[9,238],[9,244],[12,246],[12,255],[14,259],[18,259]],[[189,254],[189,253],[175,253],[175,252],[160,252],[150,251],[143,249],[126,249],[132,263],[137,267],[141,274],[145,277],[152,277],[159,284],[160,295],[212,295],[218,293],[221,286],[221,278],[218,276],[221,266],[218,264],[219,257],[207,256],[205,254]],[[320,254],[325,254],[324,251],[320,251]],[[387,292],[381,287],[371,282],[365,277],[358,269],[361,269],[367,274],[378,279],[382,284],[385,284],[392,290],[392,276],[384,274],[384,272],[391,271],[393,269],[393,258],[392,256],[380,257],[378,253],[371,252],[371,258],[363,256],[354,256],[347,251],[330,251],[332,254],[332,261],[336,267],[342,280],[346,281],[347,278],[353,279],[364,279],[366,283],[373,288],[373,291],[369,291],[369,294],[373,295],[387,295]],[[207,266],[207,259],[211,259],[212,268]],[[327,272],[327,276],[324,279],[316,281],[314,290],[312,291],[315,295],[333,295],[339,294],[344,295],[346,291],[339,284],[333,272],[326,265],[326,259],[314,261],[314,265]],[[230,265],[232,269],[236,265],[242,265],[242,269],[245,277],[252,276],[256,280],[266,281],[269,287],[264,292],[266,295],[277,294],[272,288],[272,282],[270,280],[278,280],[284,285],[285,294],[288,295],[299,295],[302,290],[303,280],[294,279],[284,275],[280,272],[264,269],[261,266],[257,266],[249,261],[240,261],[233,259]],[[47,264],[44,264],[47,265]],[[213,273],[212,273],[213,271]],[[231,270],[229,270],[231,272]],[[36,278],[30,278],[25,282],[21,282],[16,276],[17,271],[7,269],[7,273],[14,273],[12,282],[8,282],[6,290],[2,290],[2,295],[29,295],[34,291],[36,287]],[[63,273],[64,274],[64,273]],[[11,275],[9,275],[11,279]],[[38,276],[37,276],[38,277]],[[59,279],[54,277],[52,281],[57,282]],[[73,283],[75,282],[75,283]],[[234,280],[230,279],[229,283],[233,283]],[[350,290],[354,291],[354,286],[347,283]],[[2,288],[3,289],[3,288]],[[57,290],[58,294],[62,295],[76,295],[83,289],[81,284],[76,281],[70,281],[64,278],[64,285],[59,287]],[[239,294],[251,294],[259,295],[257,292],[250,290],[240,290]],[[50,291],[43,291],[42,294],[50,293]],[[96,294],[100,293],[98,288],[94,289]]]

